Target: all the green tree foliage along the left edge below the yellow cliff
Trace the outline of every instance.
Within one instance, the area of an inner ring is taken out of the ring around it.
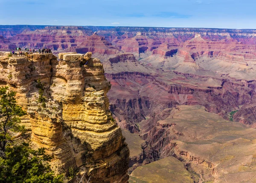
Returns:
[[[19,125],[25,111],[16,105],[15,94],[0,87],[0,183],[63,183],[63,175],[54,175],[48,163],[51,157],[43,148],[33,150],[17,141],[17,132],[25,132]]]

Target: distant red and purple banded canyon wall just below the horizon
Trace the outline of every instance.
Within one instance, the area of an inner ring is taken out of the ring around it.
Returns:
[[[0,26],[0,35],[10,42],[9,45],[47,47],[56,53],[64,50],[101,54],[129,52],[135,55],[150,52],[169,57],[175,54],[175,49],[183,49],[190,55],[207,57],[216,57],[220,52],[251,54],[244,55],[246,59],[255,55],[255,32],[248,29]],[[250,61],[255,61],[255,58]]]

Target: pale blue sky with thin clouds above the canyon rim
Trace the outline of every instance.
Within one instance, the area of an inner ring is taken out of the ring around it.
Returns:
[[[256,0],[0,0],[0,25],[256,29]]]

